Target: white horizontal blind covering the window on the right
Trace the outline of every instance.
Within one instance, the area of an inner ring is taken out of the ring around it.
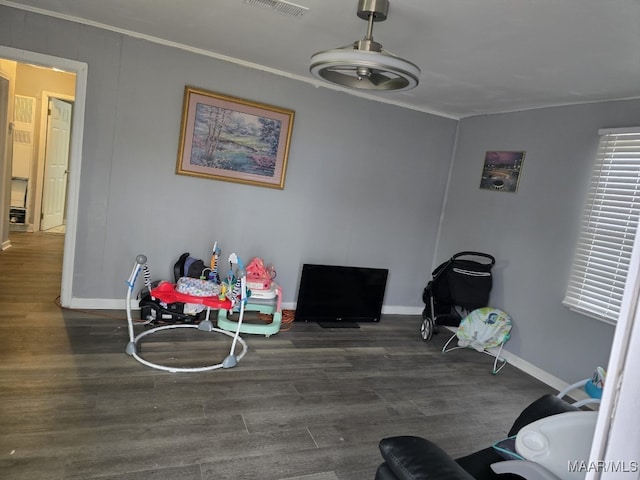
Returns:
[[[615,324],[640,217],[640,127],[600,131],[563,304]]]

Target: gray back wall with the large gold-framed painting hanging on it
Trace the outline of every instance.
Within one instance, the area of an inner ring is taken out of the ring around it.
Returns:
[[[0,44],[88,64],[74,298],[217,240],[273,263],[285,302],[316,262],[389,268],[385,305],[421,307],[456,121],[7,7]],[[175,175],[185,85],[296,112],[284,190]]]

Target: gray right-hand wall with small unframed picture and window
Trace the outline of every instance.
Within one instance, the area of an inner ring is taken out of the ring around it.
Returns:
[[[435,257],[496,259],[493,306],[513,317],[507,349],[567,381],[606,366],[614,328],[561,305],[598,129],[640,125],[640,101],[546,108],[460,122]],[[480,190],[487,150],[524,150],[517,193]]]

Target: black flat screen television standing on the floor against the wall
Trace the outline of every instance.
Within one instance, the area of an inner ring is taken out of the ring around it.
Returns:
[[[295,320],[322,326],[379,322],[388,274],[385,268],[305,263]]]

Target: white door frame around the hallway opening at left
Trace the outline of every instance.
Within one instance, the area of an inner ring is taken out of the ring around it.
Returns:
[[[47,68],[60,68],[76,75],[76,90],[74,100],[74,115],[71,121],[71,144],[69,148],[69,183],[67,188],[66,218],[67,227],[64,240],[62,259],[62,278],[60,288],[60,304],[70,307],[73,294],[73,269],[77,239],[78,205],[80,196],[80,171],[82,166],[82,140],[84,137],[84,115],[87,96],[87,70],[84,62],[67,58],[54,57],[27,50],[5,47],[0,45],[0,58],[6,58],[19,63],[32,63]],[[6,209],[5,209],[6,210]],[[9,211],[1,212],[9,215]]]

